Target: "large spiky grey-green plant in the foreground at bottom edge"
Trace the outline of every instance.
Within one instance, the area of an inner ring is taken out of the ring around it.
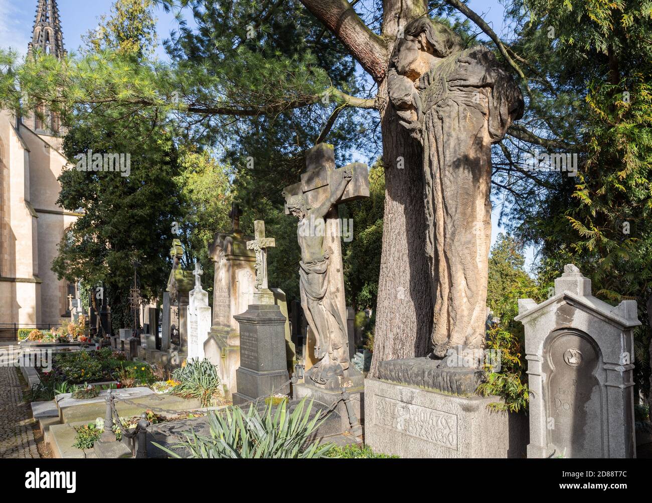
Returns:
[[[316,458],[327,457],[332,444],[309,442],[321,425],[319,414],[310,418],[312,401],[306,407],[303,399],[288,411],[283,401],[274,410],[268,404],[261,414],[253,405],[245,413],[232,407],[208,416],[210,437],[200,437],[194,431],[186,434],[187,441],[173,446],[184,448],[194,458]],[[173,457],[178,453],[156,444]]]

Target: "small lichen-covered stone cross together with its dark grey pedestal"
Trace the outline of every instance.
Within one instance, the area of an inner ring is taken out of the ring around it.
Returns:
[[[247,248],[256,251],[256,293],[248,309],[236,315],[240,324],[240,367],[236,371],[235,405],[274,393],[289,393],[285,324],[287,318],[274,304],[267,285],[267,248],[274,238],[265,237],[265,222],[256,220],[255,239]]]

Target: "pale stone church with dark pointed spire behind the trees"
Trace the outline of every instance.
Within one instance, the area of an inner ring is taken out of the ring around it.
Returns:
[[[65,56],[56,0],[38,0],[29,53],[35,48]],[[57,280],[51,266],[79,214],[56,203],[67,160],[59,119],[42,112],[45,120],[0,110],[0,339],[14,323],[48,328],[70,317],[74,284]]]

